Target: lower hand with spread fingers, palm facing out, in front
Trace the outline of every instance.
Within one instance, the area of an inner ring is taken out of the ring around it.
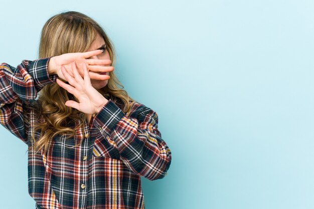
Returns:
[[[71,85],[59,79],[57,79],[57,83],[69,93],[73,94],[79,100],[79,103],[69,100],[65,105],[86,114],[98,113],[108,100],[91,85],[86,64],[82,66],[84,70],[83,78],[78,73],[74,62],[71,64],[71,67],[74,77],[71,76],[63,66],[61,67],[63,75]]]

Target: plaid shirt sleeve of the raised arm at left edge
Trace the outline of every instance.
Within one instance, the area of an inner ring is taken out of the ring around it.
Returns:
[[[57,75],[48,74],[49,59],[23,60],[16,68],[0,65],[0,123],[25,143],[29,127],[23,105],[35,101],[45,85],[56,82]]]

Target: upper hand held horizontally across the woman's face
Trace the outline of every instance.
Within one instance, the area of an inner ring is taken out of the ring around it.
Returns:
[[[84,71],[82,66],[86,63],[90,79],[108,80],[110,76],[100,75],[99,73],[113,71],[113,66],[109,66],[111,64],[111,60],[88,59],[92,56],[100,55],[101,53],[102,50],[94,50],[82,53],[67,53],[51,57],[48,63],[48,73],[49,75],[57,74],[59,78],[67,81],[61,71],[61,66],[64,66],[67,72],[73,76],[74,74],[72,72],[71,63],[75,62],[77,70],[83,78]]]

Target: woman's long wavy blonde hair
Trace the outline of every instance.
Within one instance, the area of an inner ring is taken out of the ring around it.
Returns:
[[[41,33],[39,58],[72,52],[86,52],[97,34],[103,37],[112,61],[111,65],[114,65],[114,47],[104,30],[93,19],[73,11],[55,15],[46,22]],[[135,100],[123,90],[124,87],[118,81],[114,71],[109,72],[109,76],[107,85],[100,91],[126,113],[130,110],[130,103]],[[29,107],[34,109],[37,119],[32,127],[32,146],[29,146],[29,150],[34,148],[38,152],[43,149],[46,153],[50,140],[56,135],[66,135],[67,138],[74,137],[75,130],[79,127],[76,126],[75,129],[72,129],[69,124],[73,124],[75,121],[80,120],[81,128],[83,128],[86,120],[85,114],[66,106],[65,102],[68,100],[76,100],[76,98],[57,83],[48,84],[39,92],[38,100]],[[41,133],[38,140],[35,138],[37,130],[40,130]]]

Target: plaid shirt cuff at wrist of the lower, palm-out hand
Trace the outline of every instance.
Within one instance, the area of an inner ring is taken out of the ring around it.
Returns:
[[[124,112],[109,99],[93,120],[99,128],[109,135],[124,116]]]

